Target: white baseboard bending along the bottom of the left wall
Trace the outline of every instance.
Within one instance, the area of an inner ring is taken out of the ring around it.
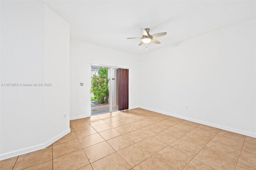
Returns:
[[[69,132],[70,132],[70,128],[68,128],[68,130],[65,130],[64,132],[58,134],[57,136],[55,136],[51,140],[48,140],[45,143],[34,145],[34,146],[29,146],[27,148],[22,148],[22,149],[18,149],[18,150],[14,150],[14,151],[11,151],[11,152],[6,152],[6,153],[3,153],[3,154],[0,154],[0,160],[4,160],[4,159],[7,159],[7,158],[12,158],[14,156],[18,156],[18,155],[26,154],[26,153],[29,153],[29,152],[34,152],[36,150],[44,149],[47,146],[49,146],[50,144],[52,144],[53,142],[55,142],[56,140],[62,138],[66,134],[68,134]]]

